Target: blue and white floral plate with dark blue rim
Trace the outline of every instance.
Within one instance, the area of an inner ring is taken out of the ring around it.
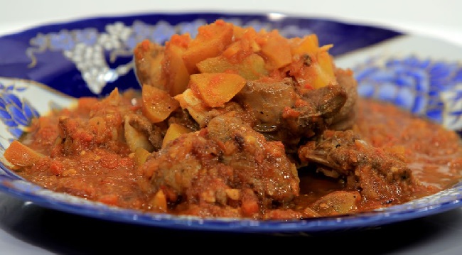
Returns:
[[[82,96],[139,88],[131,50],[149,38],[195,36],[222,18],[238,26],[279,29],[286,37],[316,33],[340,67],[355,71],[363,97],[393,102],[448,129],[462,128],[462,50],[442,40],[322,18],[281,13],[146,13],[87,18],[31,28],[0,38],[0,153],[34,116],[68,107]],[[380,87],[380,89],[377,89]],[[52,192],[21,179],[0,163],[0,191],[54,210],[114,222],[223,232],[324,232],[377,227],[460,207],[462,184],[419,200],[372,212],[296,221],[200,219],[141,213]]]

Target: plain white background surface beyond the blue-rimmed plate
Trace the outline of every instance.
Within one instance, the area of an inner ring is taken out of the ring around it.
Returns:
[[[267,13],[279,12],[296,16],[315,16],[355,23],[367,23],[394,28],[420,35],[436,36],[462,45],[462,1],[458,0],[386,0],[386,1],[289,1],[289,0],[232,0],[232,1],[107,1],[107,0],[0,0],[0,36],[32,26],[69,21],[92,16],[178,11],[218,11]],[[1,60],[0,60],[1,61]],[[1,199],[1,197],[0,197]],[[458,227],[462,224],[459,222]],[[433,254],[462,254],[458,237],[444,237]],[[397,233],[399,234],[399,233]],[[393,237],[390,237],[393,239]],[[394,237],[397,238],[397,237]],[[406,237],[401,237],[406,238]],[[383,242],[389,242],[384,240]],[[166,245],[166,244],[163,244]],[[423,244],[422,244],[423,245]],[[421,254],[423,248],[407,248],[405,254]],[[426,247],[426,251],[431,248]],[[429,250],[430,249],[430,250]],[[400,254],[404,254],[400,253]],[[49,251],[21,241],[17,235],[0,229],[0,254],[50,254]]]

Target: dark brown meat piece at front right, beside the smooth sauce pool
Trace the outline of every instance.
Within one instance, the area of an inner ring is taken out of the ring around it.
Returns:
[[[302,161],[316,164],[318,171],[332,178],[343,178],[346,188],[359,190],[369,201],[396,204],[409,197],[417,181],[398,156],[362,141],[352,130],[326,130],[318,141],[299,149]]]

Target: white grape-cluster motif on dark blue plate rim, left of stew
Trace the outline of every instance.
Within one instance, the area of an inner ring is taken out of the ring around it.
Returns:
[[[105,30],[107,33],[98,33],[94,28],[86,28],[75,31],[63,30],[48,35],[38,34],[31,40],[31,44],[36,47],[29,48],[27,52],[32,59],[31,67],[36,65],[33,53],[62,50],[65,58],[75,63],[90,91],[100,94],[108,82],[114,82],[132,68],[131,61],[111,68],[105,55],[107,51],[111,53],[109,63],[113,63],[118,55],[131,55],[131,49],[125,42],[132,29],[124,26],[122,22],[116,22],[107,25]]]

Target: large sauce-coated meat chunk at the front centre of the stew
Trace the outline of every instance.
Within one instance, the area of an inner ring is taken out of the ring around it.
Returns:
[[[163,190],[183,213],[258,218],[299,195],[297,170],[284,146],[266,141],[234,112],[168,143],[143,171],[153,192]]]

